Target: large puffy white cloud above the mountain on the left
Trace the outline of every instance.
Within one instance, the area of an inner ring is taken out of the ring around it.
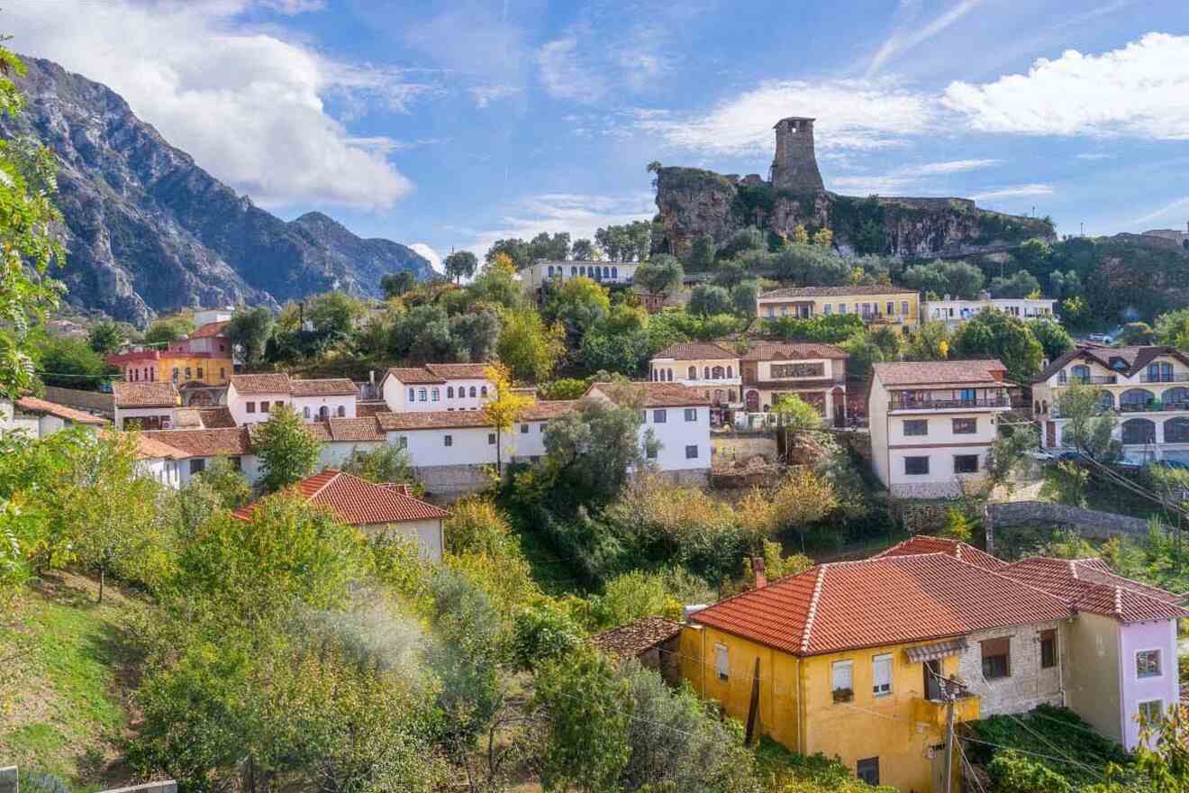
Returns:
[[[275,32],[237,29],[249,0],[69,5],[6,7],[12,45],[106,83],[166,140],[258,203],[386,207],[413,189],[379,140],[353,139],[325,99],[400,109],[430,86],[331,61]]]

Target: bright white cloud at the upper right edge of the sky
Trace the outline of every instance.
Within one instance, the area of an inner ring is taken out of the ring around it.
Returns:
[[[944,103],[982,132],[1189,140],[1187,93],[1189,36],[1147,33],[1102,55],[1040,58],[1026,75],[951,83]]]

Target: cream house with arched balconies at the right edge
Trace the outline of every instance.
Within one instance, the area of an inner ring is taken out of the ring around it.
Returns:
[[[1101,389],[1102,407],[1118,417],[1115,436],[1130,460],[1189,462],[1189,357],[1175,347],[1078,346],[1032,383],[1032,410],[1045,449],[1068,449],[1057,402],[1070,384]]]

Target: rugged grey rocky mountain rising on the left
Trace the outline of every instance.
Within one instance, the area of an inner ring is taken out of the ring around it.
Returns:
[[[320,213],[292,222],[238,196],[138,119],[118,94],[39,58],[26,58],[18,119],[6,138],[32,136],[59,161],[67,300],[144,325],[184,307],[279,301],[327,289],[378,295],[388,272],[432,272],[389,240],[365,240]]]

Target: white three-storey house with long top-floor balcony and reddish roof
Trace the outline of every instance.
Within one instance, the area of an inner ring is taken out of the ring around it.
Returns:
[[[998,360],[872,366],[872,467],[899,498],[949,498],[986,474],[999,416],[1011,410]]]

